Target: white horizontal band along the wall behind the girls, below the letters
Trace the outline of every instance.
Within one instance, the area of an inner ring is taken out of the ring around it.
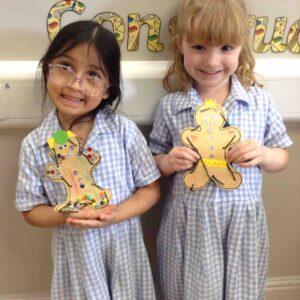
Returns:
[[[166,92],[162,78],[169,61],[123,61],[123,102],[120,111],[141,125],[153,121],[155,108]],[[0,128],[32,128],[42,119],[42,92],[37,61],[0,61]],[[300,59],[257,59],[280,112],[300,121]]]

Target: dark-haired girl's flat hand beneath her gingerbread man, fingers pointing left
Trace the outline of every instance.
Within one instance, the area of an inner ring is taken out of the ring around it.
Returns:
[[[78,212],[69,213],[66,224],[82,229],[106,227],[118,223],[117,205],[107,205],[101,209],[89,206]]]

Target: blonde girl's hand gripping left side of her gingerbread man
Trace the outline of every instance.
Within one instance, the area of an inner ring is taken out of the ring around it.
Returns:
[[[176,146],[166,155],[167,167],[172,173],[190,169],[199,160],[199,155],[194,150],[185,146]]]

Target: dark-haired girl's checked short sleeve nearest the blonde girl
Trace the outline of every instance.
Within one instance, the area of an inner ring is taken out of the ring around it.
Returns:
[[[160,177],[155,160],[143,134],[134,124],[127,137],[128,153],[136,187],[148,185]]]

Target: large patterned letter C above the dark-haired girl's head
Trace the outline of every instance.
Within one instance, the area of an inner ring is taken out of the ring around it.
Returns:
[[[81,15],[85,9],[83,3],[79,1],[65,0],[54,4],[48,14],[48,36],[52,41],[60,30],[60,19],[66,11],[74,11]]]

